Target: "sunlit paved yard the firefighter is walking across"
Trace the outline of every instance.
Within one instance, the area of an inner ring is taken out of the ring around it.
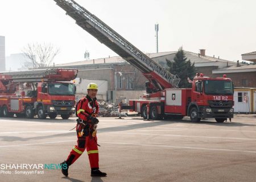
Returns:
[[[69,168],[3,169],[13,164],[59,164],[76,143],[75,118],[0,118],[0,181],[255,181],[256,117],[213,120],[143,121],[100,118],[101,170],[90,177],[87,154]],[[54,168],[54,167],[53,167]],[[39,174],[17,174],[17,172]],[[10,172],[11,174],[8,174]]]

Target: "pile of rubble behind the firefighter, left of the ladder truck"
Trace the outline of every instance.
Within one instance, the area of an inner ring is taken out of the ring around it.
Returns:
[[[100,106],[100,110],[98,115],[101,117],[116,117],[119,116],[118,105],[114,103],[99,101],[98,105]],[[127,116],[128,110],[122,110],[121,116]]]

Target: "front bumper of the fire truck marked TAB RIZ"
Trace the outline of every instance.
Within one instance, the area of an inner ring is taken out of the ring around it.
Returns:
[[[233,118],[234,109],[230,107],[228,108],[200,107],[199,117],[200,118]]]

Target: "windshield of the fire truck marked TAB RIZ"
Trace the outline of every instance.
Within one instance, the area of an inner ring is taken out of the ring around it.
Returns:
[[[233,95],[233,85],[231,81],[205,80],[204,91],[207,95]]]

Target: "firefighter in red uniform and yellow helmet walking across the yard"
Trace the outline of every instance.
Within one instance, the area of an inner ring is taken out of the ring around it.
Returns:
[[[77,102],[76,115],[77,119],[77,145],[74,146],[67,158],[61,163],[61,172],[68,176],[68,168],[73,164],[85,151],[89,156],[91,176],[106,176],[105,172],[101,172],[98,166],[98,145],[96,128],[98,119],[98,102],[96,95],[98,91],[97,84],[90,83],[87,87],[88,94]]]

